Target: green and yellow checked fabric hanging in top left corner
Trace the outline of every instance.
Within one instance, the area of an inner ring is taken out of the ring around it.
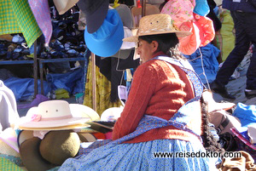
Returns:
[[[29,47],[42,34],[26,0],[1,0],[0,35],[22,33]]]

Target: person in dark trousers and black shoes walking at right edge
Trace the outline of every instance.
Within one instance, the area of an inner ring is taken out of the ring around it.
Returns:
[[[236,99],[229,94],[225,85],[230,76],[244,59],[248,49],[253,45],[253,56],[247,69],[245,94],[247,98],[256,96],[256,0],[224,0],[223,8],[229,9],[236,30],[235,48],[230,52],[223,66],[219,69],[216,79],[210,87],[213,92],[224,98]]]

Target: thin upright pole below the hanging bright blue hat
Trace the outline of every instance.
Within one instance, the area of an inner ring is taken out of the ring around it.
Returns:
[[[92,108],[96,111],[96,55],[91,53]]]

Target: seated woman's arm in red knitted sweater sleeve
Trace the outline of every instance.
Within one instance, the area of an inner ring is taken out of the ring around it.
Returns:
[[[142,65],[137,68],[131,83],[128,100],[124,111],[114,124],[112,139],[117,140],[136,128],[148,106],[148,101],[154,94],[157,82],[156,72],[152,66]]]

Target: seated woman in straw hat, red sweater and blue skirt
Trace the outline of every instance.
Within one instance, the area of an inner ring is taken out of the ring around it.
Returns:
[[[212,158],[189,157],[192,152],[206,152],[201,134],[207,131],[201,81],[177,50],[177,37],[189,34],[175,30],[168,14],[140,20],[137,36],[124,41],[138,42],[142,65],[134,73],[113,140],[87,155],[67,159],[60,170],[216,169]],[[211,140],[206,142],[211,145]],[[217,144],[212,147],[219,149]]]

